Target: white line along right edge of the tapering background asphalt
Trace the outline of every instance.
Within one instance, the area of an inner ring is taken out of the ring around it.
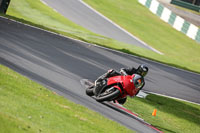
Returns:
[[[127,30],[123,29],[122,27],[120,27],[119,25],[117,25],[116,23],[114,23],[112,20],[110,20],[109,18],[107,18],[106,16],[104,16],[103,14],[101,14],[100,12],[98,12],[97,10],[95,10],[94,8],[92,8],[91,6],[89,6],[87,3],[85,3],[82,0],[79,0],[83,5],[85,5],[86,7],[88,7],[89,9],[91,9],[92,11],[94,11],[96,14],[100,15],[102,18],[104,18],[105,20],[107,20],[108,22],[112,23],[114,26],[116,26],[117,28],[119,28],[120,30],[122,30],[123,32],[125,32],[127,35],[131,36],[132,38],[134,38],[135,40],[141,42],[143,45],[145,45],[146,47],[150,48],[151,50],[153,50],[154,52],[163,55],[162,52],[154,49],[153,47],[149,46],[148,44],[146,44],[145,42],[143,42],[142,40],[140,40],[139,38],[133,36],[130,32],[128,32]]]

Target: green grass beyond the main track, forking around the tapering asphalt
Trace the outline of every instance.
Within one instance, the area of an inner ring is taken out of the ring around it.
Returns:
[[[200,73],[200,63],[198,63],[200,46],[159,20],[136,0],[85,1],[165,55],[92,33],[58,14],[40,0],[12,0],[6,17],[89,43]],[[151,23],[148,23],[150,21]]]

